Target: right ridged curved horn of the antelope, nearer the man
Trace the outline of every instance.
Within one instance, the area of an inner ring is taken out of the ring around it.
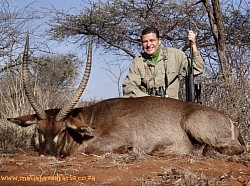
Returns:
[[[78,100],[80,99],[84,89],[87,86],[90,71],[91,71],[91,63],[92,63],[92,37],[89,36],[89,45],[88,45],[88,54],[87,54],[87,63],[84,70],[84,75],[82,78],[82,81],[75,93],[75,95],[72,98],[72,101],[70,101],[67,105],[63,106],[63,108],[60,110],[60,112],[56,115],[56,121],[62,121],[65,119],[65,117],[68,115],[68,113],[73,109],[73,107],[76,105]]]

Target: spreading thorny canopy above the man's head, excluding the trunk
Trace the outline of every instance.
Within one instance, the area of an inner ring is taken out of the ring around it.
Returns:
[[[187,13],[192,10],[186,11],[185,3],[112,0],[90,3],[89,6],[81,8],[77,15],[51,10],[54,12],[50,21],[52,38],[75,38],[76,42],[82,42],[92,34],[96,46],[104,48],[105,52],[120,55],[122,51],[122,54],[134,57],[141,49],[141,30],[147,25],[154,25],[161,31],[163,39],[172,45],[184,43],[183,49],[188,48],[185,30],[189,21]]]

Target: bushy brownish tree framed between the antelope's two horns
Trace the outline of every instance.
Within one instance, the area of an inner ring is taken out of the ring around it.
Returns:
[[[40,82],[42,89],[61,91],[74,87],[83,64],[73,53],[45,54],[31,61],[33,78]]]

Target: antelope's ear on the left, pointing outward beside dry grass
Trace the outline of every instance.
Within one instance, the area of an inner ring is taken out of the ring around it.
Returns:
[[[21,127],[28,127],[30,125],[37,124],[37,116],[35,114],[33,115],[26,115],[26,116],[20,116],[17,118],[7,118],[8,121],[11,121],[12,123],[15,123]]]

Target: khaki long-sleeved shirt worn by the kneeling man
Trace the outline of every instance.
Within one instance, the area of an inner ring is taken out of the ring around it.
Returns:
[[[162,47],[155,65],[139,54],[132,61],[123,82],[124,97],[148,96],[151,88],[164,87],[166,97],[178,99],[178,77],[187,74],[188,60],[185,53],[176,48]],[[200,52],[193,53],[193,65],[194,75],[203,72],[204,60]]]

